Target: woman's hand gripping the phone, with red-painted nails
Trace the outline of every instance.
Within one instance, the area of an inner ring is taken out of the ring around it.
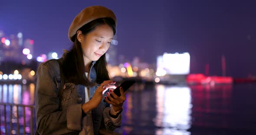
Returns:
[[[110,96],[110,93],[109,93],[109,92],[111,93],[111,95],[112,95],[114,98],[113,98],[112,96]],[[108,100],[108,98],[105,96],[105,97],[104,97],[104,98],[105,98],[105,101],[106,101],[107,103],[109,103],[109,104],[112,104],[113,109],[114,109],[115,111],[118,111],[119,109],[122,108],[123,103],[124,103],[125,100],[126,100],[125,94],[127,93],[127,91],[124,92],[123,88],[120,87],[121,96],[117,96],[117,95],[114,93],[114,91],[111,90],[111,89],[109,89],[109,92],[107,92],[107,96],[108,96],[109,100]]]

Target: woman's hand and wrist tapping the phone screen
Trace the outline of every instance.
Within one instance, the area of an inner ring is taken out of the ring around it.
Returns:
[[[112,85],[115,84],[115,81],[112,80],[105,80],[95,91],[92,99],[89,102],[82,105],[82,110],[85,113],[88,113],[90,110],[96,108],[102,101],[103,92],[108,90],[109,88],[115,89],[116,86]]]

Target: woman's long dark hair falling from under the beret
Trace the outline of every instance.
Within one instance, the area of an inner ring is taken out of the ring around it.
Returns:
[[[79,30],[82,31],[83,35],[88,34],[93,31],[97,26],[102,26],[107,24],[113,29],[113,34],[115,35],[115,21],[111,18],[100,18],[95,19],[84,26],[82,26]],[[90,80],[85,76],[85,64],[82,52],[81,43],[77,39],[77,35],[75,34],[72,37],[72,48],[63,59],[62,67],[63,73],[65,76],[65,80],[68,80],[75,84],[82,84],[84,86],[95,86],[97,84],[101,84],[104,80],[110,80],[108,70],[107,70],[107,62],[105,54],[102,55],[98,61],[96,61],[94,67],[97,75],[96,82],[90,82]]]

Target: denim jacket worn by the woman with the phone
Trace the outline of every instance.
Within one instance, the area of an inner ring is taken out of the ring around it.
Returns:
[[[62,61],[62,58],[60,58],[60,61]],[[92,82],[96,80],[94,64],[95,61],[92,61],[89,72]],[[40,135],[77,135],[82,130],[82,104],[85,103],[85,86],[65,80],[60,102],[60,80],[59,63],[56,59],[39,65],[35,106],[36,126]],[[90,87],[90,99],[98,86]],[[121,114],[117,118],[118,122],[114,124],[109,116],[109,104],[103,102],[103,100],[97,108],[92,109],[94,134],[98,134],[99,129],[102,128],[113,131],[121,124]]]

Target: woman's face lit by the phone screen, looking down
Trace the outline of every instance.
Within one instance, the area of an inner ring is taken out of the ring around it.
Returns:
[[[97,61],[108,50],[114,37],[113,30],[108,25],[97,26],[86,35],[78,34],[85,62]]]

